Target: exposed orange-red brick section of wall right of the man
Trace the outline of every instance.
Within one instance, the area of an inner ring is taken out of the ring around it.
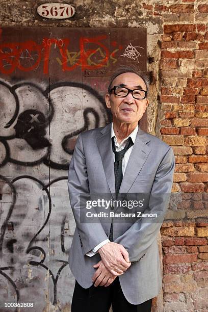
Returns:
[[[205,311],[208,223],[195,216],[207,216],[208,208],[208,5],[189,1],[157,10],[164,16],[160,133],[175,154],[172,191],[186,196],[179,209],[193,209],[193,221],[164,222],[161,229],[164,311]]]

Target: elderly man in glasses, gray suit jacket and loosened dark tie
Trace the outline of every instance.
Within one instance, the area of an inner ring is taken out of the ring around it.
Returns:
[[[69,255],[76,279],[72,312],[107,312],[111,304],[113,312],[150,311],[160,291],[157,236],[168,206],[161,194],[171,193],[175,161],[169,145],[138,126],[149,103],[147,93],[146,76],[121,68],[106,95],[113,122],[77,139],[68,174],[76,222]],[[87,200],[95,193],[114,199],[149,193],[144,212],[159,213],[160,218],[83,222],[86,206],[80,196]]]

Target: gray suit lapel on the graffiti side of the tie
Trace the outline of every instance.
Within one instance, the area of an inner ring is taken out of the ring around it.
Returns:
[[[108,124],[100,132],[97,138],[97,146],[102,159],[103,169],[113,198],[115,199],[115,176],[114,176],[114,161],[113,150],[111,143],[111,124]]]

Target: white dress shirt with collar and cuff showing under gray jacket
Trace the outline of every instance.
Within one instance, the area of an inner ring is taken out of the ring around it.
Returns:
[[[116,146],[116,151],[121,151],[125,145],[126,145],[126,140],[131,137],[132,138],[132,141],[133,143],[135,143],[135,140],[136,140],[136,136],[137,136],[137,132],[138,132],[138,125],[136,126],[136,128],[133,130],[133,132],[131,134],[129,134],[129,136],[125,139],[123,139],[121,141],[121,143],[119,144],[118,141],[117,141],[117,138],[116,138],[116,135],[114,133],[114,129],[113,129],[113,123],[112,123],[112,127],[111,127],[111,138],[114,137],[114,141],[115,141],[115,146]],[[127,166],[127,163],[128,163],[128,160],[129,160],[129,157],[131,155],[131,152],[132,152],[132,149],[133,149],[134,145],[129,147],[128,150],[125,152],[124,154],[124,157],[122,159],[122,173],[124,175],[124,172],[125,172],[125,169],[126,169],[126,166]],[[115,161],[115,154],[113,153],[113,159]],[[92,251],[86,253],[86,255],[88,255],[89,257],[92,257],[93,255],[95,255],[97,253],[97,250],[99,248],[101,248],[103,245],[109,243],[109,239],[105,240],[105,241],[102,241],[101,243],[99,243],[97,246],[95,246]]]

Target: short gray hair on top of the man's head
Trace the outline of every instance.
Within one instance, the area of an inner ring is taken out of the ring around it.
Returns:
[[[138,75],[144,81],[146,88],[147,88],[147,92],[149,91],[150,79],[149,79],[148,75],[145,72],[141,71],[136,66],[131,65],[131,66],[120,66],[117,70],[114,71],[113,75],[111,76],[110,83],[109,83],[108,93],[110,93],[110,91],[112,89],[112,83],[113,83],[114,79],[117,76],[119,76],[125,72],[133,72],[136,75]]]

